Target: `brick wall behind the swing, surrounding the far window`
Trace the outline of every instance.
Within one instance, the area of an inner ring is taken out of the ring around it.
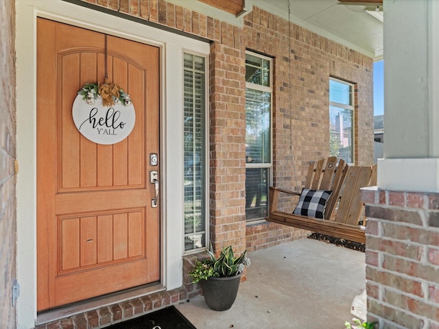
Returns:
[[[244,19],[247,49],[272,56],[273,183],[300,191],[310,162],[329,156],[329,77],[355,83],[355,164],[373,162],[373,60],[259,8]],[[292,211],[297,199],[282,198]],[[249,250],[306,235],[264,223],[247,228]]]

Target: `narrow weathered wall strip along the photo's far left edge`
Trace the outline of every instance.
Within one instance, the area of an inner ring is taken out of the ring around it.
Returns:
[[[15,328],[12,280],[16,278],[15,1],[0,1],[0,325]]]

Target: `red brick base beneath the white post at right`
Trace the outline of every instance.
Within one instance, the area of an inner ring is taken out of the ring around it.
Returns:
[[[439,193],[367,188],[362,199],[368,319],[380,328],[438,329]]]

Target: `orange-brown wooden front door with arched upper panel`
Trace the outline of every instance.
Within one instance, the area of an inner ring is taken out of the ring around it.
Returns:
[[[160,280],[150,183],[160,167],[150,165],[159,153],[158,67],[157,47],[38,19],[38,310]],[[113,145],[88,141],[72,119],[78,90],[104,82],[106,70],[136,114],[128,138]]]

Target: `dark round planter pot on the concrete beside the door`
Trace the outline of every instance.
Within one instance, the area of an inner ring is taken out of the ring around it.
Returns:
[[[204,300],[212,310],[228,310],[235,302],[242,273],[228,278],[201,280]]]

